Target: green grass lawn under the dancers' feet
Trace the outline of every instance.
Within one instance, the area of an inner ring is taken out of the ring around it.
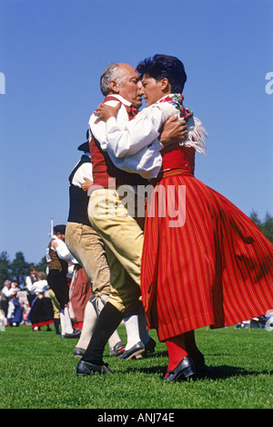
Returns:
[[[44,328],[45,329],[45,328]],[[124,326],[119,327],[125,339]],[[155,331],[151,331],[157,340]],[[76,377],[76,339],[30,327],[0,332],[0,409],[272,409],[273,332],[197,330],[213,377],[165,383],[166,345],[147,359],[108,357],[115,375]]]

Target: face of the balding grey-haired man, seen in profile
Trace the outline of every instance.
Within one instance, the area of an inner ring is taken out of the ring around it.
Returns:
[[[118,93],[139,109],[142,104],[143,88],[136,69],[127,64],[121,64],[120,68],[123,74]]]

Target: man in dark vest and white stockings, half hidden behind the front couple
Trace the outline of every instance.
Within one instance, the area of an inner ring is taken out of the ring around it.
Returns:
[[[88,131],[86,138],[88,138]],[[78,147],[83,151],[80,161],[69,175],[69,213],[66,224],[66,245],[86,272],[93,295],[85,308],[82,333],[74,350],[75,357],[85,354],[87,345],[96,326],[97,317],[110,294],[110,271],[106,259],[104,242],[87,217],[89,197],[87,188],[93,183],[89,143]],[[124,349],[117,331],[109,338],[110,355],[119,355]]]

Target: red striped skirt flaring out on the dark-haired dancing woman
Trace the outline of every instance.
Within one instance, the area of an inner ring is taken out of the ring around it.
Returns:
[[[234,325],[273,308],[273,245],[190,172],[167,172],[157,182],[144,234],[143,305],[160,340]]]

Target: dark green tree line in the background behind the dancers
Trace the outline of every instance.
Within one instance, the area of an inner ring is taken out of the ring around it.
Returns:
[[[273,216],[269,213],[266,214],[264,221],[258,218],[258,213],[253,211],[250,214],[252,221],[258,225],[258,228],[263,234],[268,237],[268,240],[273,243]],[[4,286],[5,280],[11,280],[16,282],[18,286],[25,284],[25,277],[29,275],[29,267],[35,266],[37,271],[45,271],[46,269],[46,258],[45,256],[41,259],[38,264],[28,263],[25,261],[25,255],[23,252],[17,252],[15,259],[10,261],[9,255],[3,251],[0,253],[0,289]]]

